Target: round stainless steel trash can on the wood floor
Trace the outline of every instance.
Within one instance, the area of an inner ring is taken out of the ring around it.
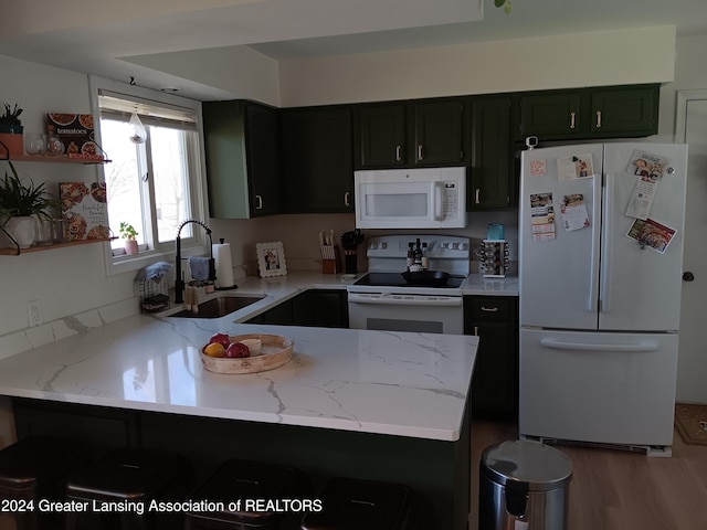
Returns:
[[[539,442],[487,447],[479,464],[478,530],[566,530],[572,460]]]

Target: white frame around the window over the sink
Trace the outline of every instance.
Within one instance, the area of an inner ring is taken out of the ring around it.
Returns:
[[[173,94],[165,94],[161,92],[152,91],[149,88],[144,88],[140,86],[129,85],[127,83],[119,83],[112,80],[105,80],[102,77],[88,76],[88,86],[91,92],[91,106],[93,115],[96,117],[101,116],[98,108],[98,94],[99,92],[107,91],[115,94],[126,96],[126,99],[136,98],[144,99],[148,102],[154,102],[156,104],[166,104],[177,107],[184,107],[192,110],[197,115],[197,130],[199,135],[199,146],[198,152],[191,153],[190,157],[190,197],[191,197],[191,211],[192,219],[198,219],[208,224],[208,212],[209,206],[207,202],[207,170],[205,170],[205,158],[204,158],[204,149],[203,149],[203,119],[201,115],[201,102],[197,102],[193,99],[188,99],[184,97],[176,96]],[[95,135],[98,141],[101,142],[101,128],[96,127]],[[108,159],[110,158],[110,153],[107,153]],[[110,162],[107,162],[110,163]],[[99,167],[98,178],[101,181],[105,182],[105,169]],[[110,212],[108,212],[108,215]],[[147,220],[146,220],[147,221]],[[151,226],[149,223],[146,225]],[[192,236],[182,237],[181,239],[181,255],[183,257],[188,256],[199,256],[209,254],[209,241],[208,237],[202,230],[193,229],[192,226]],[[148,230],[151,230],[148,227]],[[175,234],[176,235],[176,234]],[[158,245],[157,248],[145,250],[140,248],[139,254],[137,255],[118,255],[114,256],[110,245],[105,245],[105,265],[106,265],[106,275],[113,276],[116,274],[123,274],[130,271],[139,271],[147,265],[150,265],[156,262],[175,262],[175,245],[173,244],[161,244]]]

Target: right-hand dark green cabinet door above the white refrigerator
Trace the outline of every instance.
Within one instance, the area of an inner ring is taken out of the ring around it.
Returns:
[[[658,130],[659,88],[627,86],[591,92],[591,134],[601,137],[650,136]]]

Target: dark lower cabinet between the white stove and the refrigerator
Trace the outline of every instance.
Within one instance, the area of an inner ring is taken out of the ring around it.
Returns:
[[[464,333],[479,337],[472,378],[472,415],[518,417],[518,299],[465,296]]]

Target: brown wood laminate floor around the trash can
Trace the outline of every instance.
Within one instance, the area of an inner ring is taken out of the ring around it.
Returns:
[[[484,448],[516,439],[517,425],[472,424],[472,513],[478,513]],[[556,446],[572,459],[568,530],[707,530],[707,446],[675,432],[671,458],[615,449]],[[472,530],[477,530],[472,516]]]

